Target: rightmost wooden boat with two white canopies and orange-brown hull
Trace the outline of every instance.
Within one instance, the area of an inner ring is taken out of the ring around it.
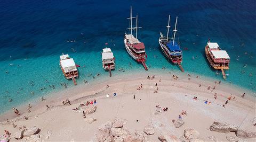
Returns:
[[[230,62],[227,51],[221,50],[218,43],[209,41],[205,46],[205,55],[210,65],[214,69],[221,69],[222,76],[226,79],[225,69],[229,69]]]

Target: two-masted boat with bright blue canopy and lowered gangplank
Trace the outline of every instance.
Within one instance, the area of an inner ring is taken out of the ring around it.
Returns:
[[[161,50],[163,51],[164,55],[168,58],[168,60],[171,60],[172,63],[174,63],[175,65],[178,64],[180,67],[180,70],[184,72],[184,69],[181,66],[182,50],[180,49],[180,46],[178,45],[178,43],[175,42],[175,34],[177,32],[177,20],[178,20],[178,16],[176,17],[175,27],[173,30],[174,32],[173,38],[169,39],[169,29],[171,28],[170,15],[169,15],[168,25],[166,26],[167,36],[164,37],[162,32],[160,32],[161,37],[159,38],[158,42],[161,47]]]

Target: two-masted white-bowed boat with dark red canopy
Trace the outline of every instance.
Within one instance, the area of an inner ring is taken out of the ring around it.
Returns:
[[[132,19],[136,18],[136,26],[132,27]],[[127,30],[130,30],[130,34],[124,35],[124,46],[128,54],[135,60],[137,60],[139,63],[143,65],[143,67],[148,70],[147,65],[146,65],[146,59],[147,59],[147,54],[145,51],[145,45],[143,42],[140,42],[138,40],[137,34],[138,34],[138,29],[141,27],[138,27],[138,15],[136,17],[132,17],[132,6],[131,6],[131,12],[130,12],[130,17],[127,18],[130,19],[130,28]],[[132,34],[132,31],[135,29],[136,36],[134,37]]]

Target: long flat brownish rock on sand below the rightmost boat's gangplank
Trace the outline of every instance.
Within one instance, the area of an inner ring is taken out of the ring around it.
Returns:
[[[210,126],[211,131],[218,131],[218,132],[236,132],[238,130],[238,126],[235,125],[229,125],[226,122],[213,122]]]

